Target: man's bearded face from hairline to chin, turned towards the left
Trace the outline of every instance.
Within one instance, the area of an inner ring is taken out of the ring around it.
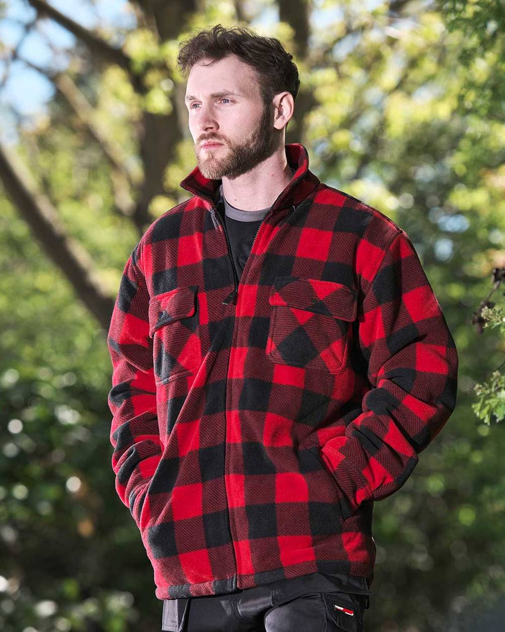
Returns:
[[[233,179],[275,152],[278,130],[272,123],[273,110],[264,106],[250,66],[234,55],[210,66],[201,65],[208,61],[195,64],[187,79],[189,130],[205,178]],[[202,147],[210,140],[221,144]]]

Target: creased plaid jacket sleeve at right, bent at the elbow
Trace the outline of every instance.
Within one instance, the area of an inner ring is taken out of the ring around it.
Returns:
[[[400,489],[456,404],[455,342],[404,231],[377,267],[358,331],[372,388],[345,434],[320,448],[340,492],[343,518],[363,501]]]

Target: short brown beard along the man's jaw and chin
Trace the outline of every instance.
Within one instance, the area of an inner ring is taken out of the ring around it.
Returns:
[[[270,157],[276,150],[276,130],[271,122],[270,107],[264,105],[261,118],[254,126],[248,138],[241,143],[234,143],[226,138],[207,138],[223,143],[221,147],[196,151],[198,169],[205,178],[218,180],[226,177],[237,178]],[[226,152],[227,148],[227,152]],[[218,157],[223,152],[223,157]]]

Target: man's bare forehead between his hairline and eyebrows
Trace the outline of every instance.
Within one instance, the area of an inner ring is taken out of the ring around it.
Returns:
[[[218,61],[201,59],[191,68],[186,95],[211,95],[225,90],[243,95],[258,95],[258,79],[253,68],[235,55]]]

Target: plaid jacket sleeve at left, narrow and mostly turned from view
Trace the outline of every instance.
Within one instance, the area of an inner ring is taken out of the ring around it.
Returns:
[[[140,503],[161,459],[149,295],[136,249],[122,272],[107,346],[112,360],[110,442],[116,491],[139,524]]]

